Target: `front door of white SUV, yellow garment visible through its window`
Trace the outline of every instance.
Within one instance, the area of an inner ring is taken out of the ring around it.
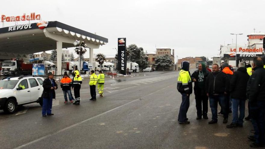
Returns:
[[[21,90],[16,91],[17,95],[17,104],[23,104],[30,102],[30,88],[28,85],[28,80],[27,79],[21,79],[18,83],[16,88],[18,87],[23,87]]]

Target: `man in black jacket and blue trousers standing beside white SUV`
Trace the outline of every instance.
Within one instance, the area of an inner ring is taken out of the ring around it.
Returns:
[[[43,87],[42,116],[54,115],[53,113],[51,113],[52,99],[55,99],[55,89],[58,88],[58,85],[53,79],[53,74],[49,72],[47,76],[48,78],[44,79],[43,84],[42,84],[42,87]]]

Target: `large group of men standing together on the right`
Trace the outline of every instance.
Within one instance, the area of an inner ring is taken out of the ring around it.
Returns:
[[[239,68],[235,72],[231,70],[227,63],[223,63],[220,68],[218,64],[213,64],[212,72],[207,70],[204,63],[199,63],[198,70],[190,75],[189,62],[183,61],[177,84],[177,89],[182,95],[178,122],[180,124],[190,124],[186,113],[189,109],[192,82],[194,82],[197,120],[208,119],[209,99],[212,113],[212,120],[208,122],[209,124],[218,122],[217,106],[219,102],[223,123],[228,122],[228,115],[232,112],[232,123],[227,125],[226,128],[243,127],[245,102],[248,99],[249,116],[245,119],[251,119],[255,134],[248,136],[250,140],[254,141],[250,146],[264,147],[265,68],[263,66],[265,67],[265,58],[262,59],[259,56],[254,57],[252,68],[249,65],[246,66],[244,62],[240,62]]]

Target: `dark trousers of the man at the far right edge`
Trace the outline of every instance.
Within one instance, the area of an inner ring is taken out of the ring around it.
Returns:
[[[265,101],[250,103],[251,122],[255,130],[256,143],[265,144]]]

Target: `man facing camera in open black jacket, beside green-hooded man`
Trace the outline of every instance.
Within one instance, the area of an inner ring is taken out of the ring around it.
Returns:
[[[229,89],[229,80],[227,75],[219,71],[218,64],[213,64],[213,72],[206,79],[206,92],[209,96],[210,108],[212,111],[212,120],[209,124],[217,123],[217,104],[221,104],[221,108],[226,109],[225,94]],[[228,113],[223,110],[223,123],[227,123]]]

